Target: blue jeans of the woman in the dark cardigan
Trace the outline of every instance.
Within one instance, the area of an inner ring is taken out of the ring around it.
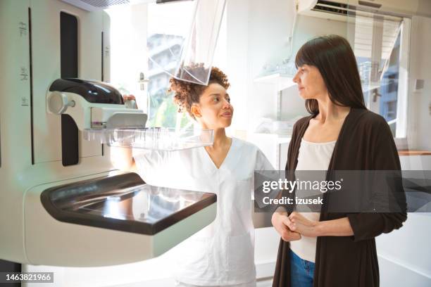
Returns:
[[[290,255],[290,284],[292,287],[312,287],[314,263],[301,259],[292,250]]]

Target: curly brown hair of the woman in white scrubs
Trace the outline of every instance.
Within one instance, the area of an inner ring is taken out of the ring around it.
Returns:
[[[196,75],[208,75],[208,68],[204,67],[204,63],[195,63],[189,65],[185,68],[189,74]],[[227,89],[230,86],[230,83],[227,81],[227,75],[222,72],[219,68],[213,67],[211,68],[211,74],[208,81],[208,86],[204,86],[202,84],[195,84],[192,82],[187,82],[187,80],[193,80],[193,77],[186,73],[182,78],[185,81],[180,79],[170,78],[169,80],[169,89],[168,92],[175,92],[175,96],[173,101],[175,104],[179,106],[178,112],[182,113],[183,110],[187,110],[187,113],[191,117],[194,117],[192,114],[192,105],[194,103],[199,103],[199,98],[204,93],[205,89],[208,88],[210,84],[220,84],[222,87]]]

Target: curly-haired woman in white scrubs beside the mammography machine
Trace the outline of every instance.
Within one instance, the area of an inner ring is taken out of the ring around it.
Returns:
[[[208,72],[203,65],[192,75]],[[253,144],[226,136],[234,115],[226,75],[211,69],[208,86],[170,79],[175,103],[213,129],[205,148],[161,152],[134,150],[137,171],[149,184],[217,195],[215,221],[177,246],[177,286],[256,286],[251,191],[254,170],[273,170]],[[127,97],[126,97],[127,98]]]

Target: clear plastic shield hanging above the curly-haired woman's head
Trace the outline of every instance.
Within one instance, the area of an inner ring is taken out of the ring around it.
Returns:
[[[165,21],[172,22],[163,24],[164,31],[163,27],[149,27],[150,30],[158,30],[150,34],[149,39],[157,37],[158,46],[169,47],[164,50],[164,53],[168,53],[164,57],[156,51],[150,52],[151,64],[176,79],[207,85],[225,4],[226,0],[197,0],[157,7]],[[182,13],[166,17],[172,11]],[[181,15],[180,19],[177,15]],[[201,68],[196,69],[196,65]]]

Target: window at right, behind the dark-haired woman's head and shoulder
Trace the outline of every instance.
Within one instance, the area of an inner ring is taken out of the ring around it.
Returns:
[[[406,138],[409,19],[357,15],[354,53],[368,109],[387,120],[396,138]],[[401,53],[404,51],[404,53]],[[407,51],[407,53],[406,53]]]

